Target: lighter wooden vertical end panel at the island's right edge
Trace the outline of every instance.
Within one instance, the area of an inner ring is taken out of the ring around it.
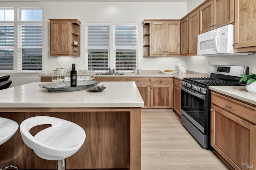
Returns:
[[[141,108],[130,112],[130,170],[141,169]]]

